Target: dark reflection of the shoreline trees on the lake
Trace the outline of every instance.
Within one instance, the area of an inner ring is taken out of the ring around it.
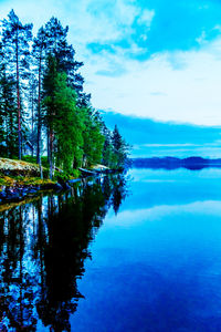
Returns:
[[[71,331],[88,243],[112,205],[117,212],[125,184],[104,177],[1,215],[0,331],[35,331],[39,319]]]

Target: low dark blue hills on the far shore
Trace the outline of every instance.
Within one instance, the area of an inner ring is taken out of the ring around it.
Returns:
[[[188,168],[188,169],[202,169],[206,167],[221,167],[221,159],[206,159],[201,157],[189,157],[189,158],[133,158],[131,167],[136,168]]]

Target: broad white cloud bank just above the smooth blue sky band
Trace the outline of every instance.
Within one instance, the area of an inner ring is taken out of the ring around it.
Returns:
[[[96,55],[97,69],[116,63],[126,74],[96,75],[87,89],[98,108],[160,121],[221,125],[221,39],[200,51],[160,53],[150,60],[125,60],[124,54]],[[156,97],[152,91],[160,91]]]

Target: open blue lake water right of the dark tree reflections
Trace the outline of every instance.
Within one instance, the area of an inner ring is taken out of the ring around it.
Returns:
[[[130,178],[91,243],[72,331],[221,331],[221,170]]]

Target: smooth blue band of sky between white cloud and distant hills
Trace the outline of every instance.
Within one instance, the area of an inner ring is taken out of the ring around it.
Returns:
[[[102,112],[102,111],[101,111]],[[109,128],[115,124],[133,146],[131,157],[200,156],[221,158],[221,128],[159,122],[114,112],[102,112]]]

